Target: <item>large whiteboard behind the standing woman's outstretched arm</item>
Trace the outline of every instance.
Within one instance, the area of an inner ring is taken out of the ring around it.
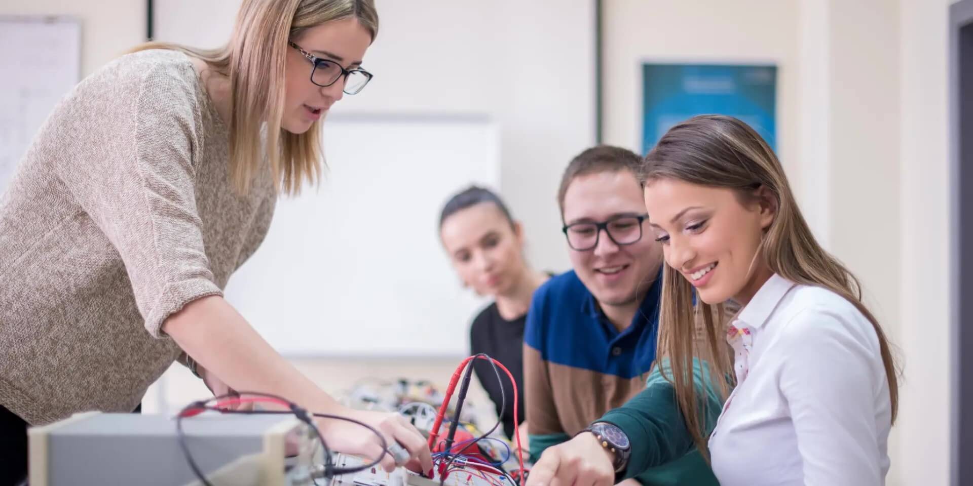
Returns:
[[[486,117],[332,114],[327,179],[281,198],[227,299],[278,352],[461,356],[486,304],[461,288],[438,236],[449,196],[499,189]]]

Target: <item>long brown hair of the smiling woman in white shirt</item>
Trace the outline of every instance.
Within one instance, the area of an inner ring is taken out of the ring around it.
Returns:
[[[858,280],[814,239],[774,151],[753,128],[723,116],[706,115],[683,121],[669,129],[645,156],[639,175],[643,182],[672,179],[729,188],[738,191],[741,200],[752,197],[757,187],[770,191],[776,198],[776,214],[757,256],[787,280],[843,296],[872,323],[879,336],[894,423],[898,412],[898,368],[888,339],[862,303]],[[708,459],[692,362],[697,357],[709,363],[709,377],[720,384],[725,399],[736,375],[726,353],[723,312],[718,311],[714,318],[713,306],[699,300],[703,316],[702,326],[699,325],[694,320],[692,286],[668,264],[661,302],[659,352],[669,358],[671,365],[666,378],[675,388],[687,428]]]

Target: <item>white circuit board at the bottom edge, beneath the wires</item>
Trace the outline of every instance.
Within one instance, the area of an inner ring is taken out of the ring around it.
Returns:
[[[335,454],[334,464],[338,468],[353,468],[365,464],[360,458],[345,454]],[[318,481],[324,484],[322,481]],[[516,486],[510,479],[479,469],[458,467],[450,470],[444,486]],[[379,467],[365,469],[335,476],[329,486],[440,486],[439,478],[429,479],[405,468],[386,472]]]

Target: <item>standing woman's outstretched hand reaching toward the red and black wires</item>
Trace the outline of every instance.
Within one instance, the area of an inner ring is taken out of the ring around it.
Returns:
[[[394,447],[392,444],[398,442],[409,452],[409,461],[405,465],[407,468],[414,471],[432,469],[432,457],[425,437],[419,434],[402,415],[353,409],[345,409],[336,415],[372,426],[385,437],[385,442],[390,448]],[[318,428],[329,448],[345,454],[361,456],[367,460],[375,460],[380,454],[381,467],[387,471],[395,469],[395,458],[381,450],[378,436],[372,434],[372,431],[343,420],[320,418],[317,420]]]

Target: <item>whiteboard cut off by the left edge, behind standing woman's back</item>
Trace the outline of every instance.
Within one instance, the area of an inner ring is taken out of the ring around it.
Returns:
[[[0,193],[54,105],[81,77],[81,23],[0,16]]]

